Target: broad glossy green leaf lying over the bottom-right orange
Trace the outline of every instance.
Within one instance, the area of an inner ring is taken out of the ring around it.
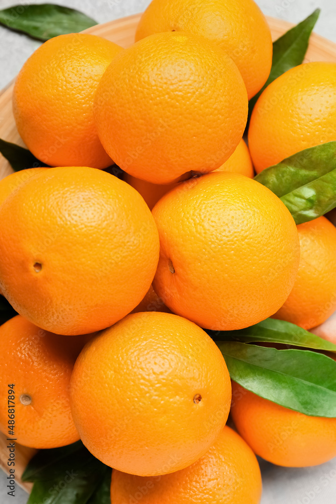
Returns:
[[[309,350],[217,342],[232,380],[305,415],[336,417],[336,361]]]

